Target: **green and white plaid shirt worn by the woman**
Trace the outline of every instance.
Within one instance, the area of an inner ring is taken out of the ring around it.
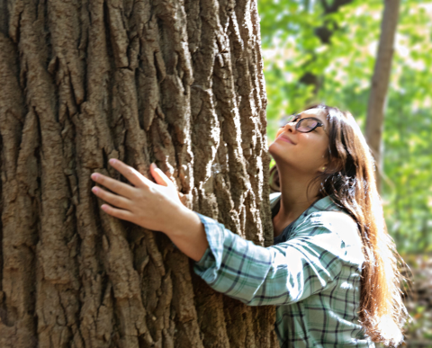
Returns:
[[[273,216],[280,193],[270,195]],[[364,262],[356,222],[325,197],[263,247],[198,214],[209,248],[193,270],[249,306],[275,305],[281,347],[374,347],[358,322]]]

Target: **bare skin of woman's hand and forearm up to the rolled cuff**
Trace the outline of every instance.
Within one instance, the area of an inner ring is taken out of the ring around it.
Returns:
[[[110,165],[130,183],[121,183],[109,176],[94,173],[94,182],[114,192],[94,186],[92,192],[103,201],[101,209],[114,218],[127,220],[154,231],[164,232],[184,254],[198,261],[208,247],[201,220],[192,210],[184,207],[175,185],[155,164],[150,174],[156,183],[117,159]]]

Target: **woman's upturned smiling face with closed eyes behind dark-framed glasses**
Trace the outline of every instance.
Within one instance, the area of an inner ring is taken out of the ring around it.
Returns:
[[[311,109],[300,114],[299,120],[311,117],[324,125],[324,128],[318,127],[309,133],[296,130],[296,123],[293,122],[278,130],[269,152],[279,169],[284,170],[285,166],[289,166],[301,174],[313,175],[322,171],[322,167],[327,165],[326,154],[329,148],[327,114],[322,109]]]

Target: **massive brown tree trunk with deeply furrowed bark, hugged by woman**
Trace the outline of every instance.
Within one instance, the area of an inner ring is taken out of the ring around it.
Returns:
[[[211,290],[90,174],[156,164],[271,245],[256,1],[0,0],[0,347],[275,347],[275,308]],[[164,209],[164,207],[160,207]]]

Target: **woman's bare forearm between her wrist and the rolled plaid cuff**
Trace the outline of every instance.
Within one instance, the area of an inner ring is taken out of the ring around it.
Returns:
[[[201,219],[193,210],[182,208],[175,223],[166,231],[171,241],[194,261],[200,261],[209,246]]]

